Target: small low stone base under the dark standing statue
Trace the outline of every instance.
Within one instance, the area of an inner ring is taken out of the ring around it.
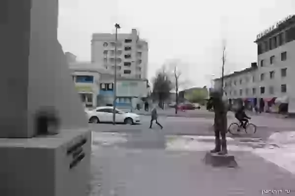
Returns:
[[[206,165],[211,165],[213,167],[237,167],[234,155],[219,155],[218,153],[207,152],[204,161]]]

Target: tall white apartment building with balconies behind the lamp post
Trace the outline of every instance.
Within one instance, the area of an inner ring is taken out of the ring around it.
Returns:
[[[115,72],[115,39],[111,33],[94,33],[91,61]],[[148,42],[139,38],[136,29],[118,33],[117,74],[123,78],[148,79]]]

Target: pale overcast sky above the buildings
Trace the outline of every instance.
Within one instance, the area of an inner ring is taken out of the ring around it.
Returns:
[[[90,60],[92,33],[129,33],[137,28],[149,44],[148,77],[179,59],[190,86],[208,85],[225,72],[257,59],[256,35],[295,13],[295,0],[59,0],[59,42],[64,51]]]

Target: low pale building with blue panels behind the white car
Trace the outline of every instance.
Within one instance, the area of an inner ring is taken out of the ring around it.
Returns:
[[[104,68],[89,62],[69,65],[76,90],[87,107],[113,105],[114,75]],[[122,108],[133,108],[147,98],[149,85],[147,79],[117,79],[117,102]]]

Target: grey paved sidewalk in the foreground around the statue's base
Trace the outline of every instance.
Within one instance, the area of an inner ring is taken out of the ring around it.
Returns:
[[[294,175],[250,152],[232,152],[237,169],[206,166],[205,153],[99,148],[89,196],[261,196],[294,189]]]

